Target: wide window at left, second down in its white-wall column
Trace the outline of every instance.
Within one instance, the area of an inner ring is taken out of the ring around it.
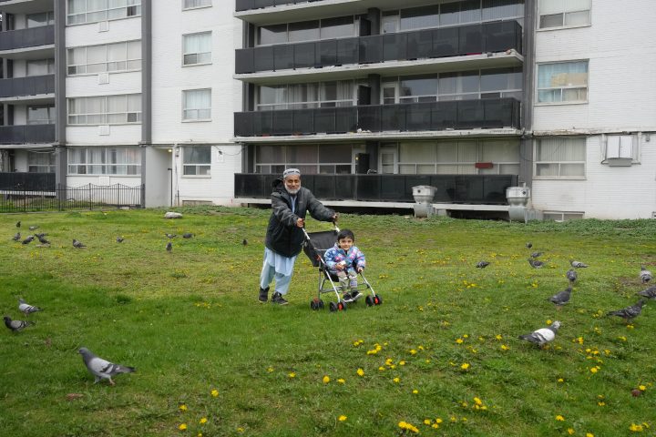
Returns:
[[[68,49],[68,76],[141,69],[141,41]]]

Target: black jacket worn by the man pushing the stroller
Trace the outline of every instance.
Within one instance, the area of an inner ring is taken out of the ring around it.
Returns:
[[[272,215],[264,244],[276,253],[293,257],[301,251],[304,239],[296,220],[305,219],[305,213],[309,210],[314,219],[333,221],[335,212],[314,198],[312,191],[301,187],[296,193],[296,212],[292,213],[292,196],[284,188],[282,178],[274,180],[272,185]]]

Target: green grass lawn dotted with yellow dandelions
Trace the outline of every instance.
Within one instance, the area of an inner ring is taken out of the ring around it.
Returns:
[[[656,272],[656,220],[343,214],[384,303],[331,313],[310,310],[304,255],[290,305],[257,302],[270,211],[179,210],[0,216],[0,308],[36,322],[0,331],[0,435],[656,435],[656,301],[630,325],[605,315]],[[12,241],[17,220],[52,246]],[[557,310],[569,259],[590,267]],[[518,340],[553,320],[548,348]],[[94,384],[82,346],[137,372]]]

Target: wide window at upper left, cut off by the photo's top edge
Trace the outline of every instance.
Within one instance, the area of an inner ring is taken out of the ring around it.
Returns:
[[[141,0],[67,0],[67,6],[68,25],[141,15]]]

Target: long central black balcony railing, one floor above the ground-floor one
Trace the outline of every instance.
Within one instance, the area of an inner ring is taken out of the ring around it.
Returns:
[[[359,107],[321,107],[237,112],[235,137],[385,131],[520,128],[519,101],[490,98]]]

